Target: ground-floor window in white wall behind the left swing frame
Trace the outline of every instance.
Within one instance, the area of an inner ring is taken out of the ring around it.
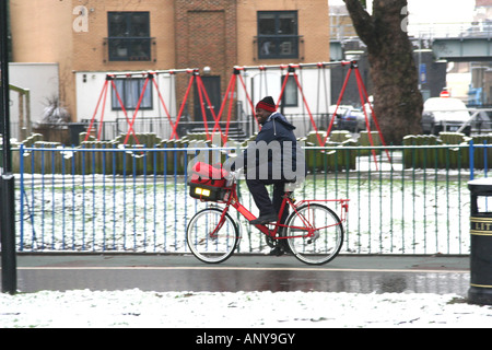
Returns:
[[[112,109],[121,110],[121,103],[125,109],[136,109],[139,104],[140,95],[143,90],[145,79],[125,78],[115,79],[115,85],[118,90],[119,97],[116,95],[116,91],[112,92]],[[152,85],[150,82],[147,84],[145,93],[143,94],[142,102],[140,103],[140,109],[152,109]]]

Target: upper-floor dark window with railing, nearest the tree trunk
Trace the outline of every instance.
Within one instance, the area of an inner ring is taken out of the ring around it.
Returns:
[[[298,58],[297,12],[258,12],[258,58]]]

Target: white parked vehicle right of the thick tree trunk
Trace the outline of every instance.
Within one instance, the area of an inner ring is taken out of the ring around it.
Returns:
[[[424,103],[422,131],[438,135],[441,131],[461,131],[470,135],[470,113],[461,100],[431,97]]]

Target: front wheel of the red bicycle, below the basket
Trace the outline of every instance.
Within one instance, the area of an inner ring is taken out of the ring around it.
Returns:
[[[186,229],[188,247],[203,262],[225,261],[234,253],[238,240],[236,223],[219,208],[200,210]]]

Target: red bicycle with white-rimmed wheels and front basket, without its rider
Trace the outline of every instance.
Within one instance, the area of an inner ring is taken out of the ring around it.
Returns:
[[[196,185],[190,195],[203,201],[215,201],[223,207],[209,207],[198,211],[186,229],[187,243],[191,253],[201,261],[218,264],[230,258],[238,246],[239,226],[229,211],[236,209],[246,220],[256,217],[241,202],[236,192],[236,175],[230,174],[225,187]],[[286,184],[289,186],[290,184]],[[279,221],[286,206],[291,213],[285,223],[255,225],[266,235],[267,244],[284,244],[297,259],[309,265],[321,265],[332,260],[343,243],[343,224],[349,210],[349,199],[309,199],[295,202],[292,191],[286,187]],[[324,202],[338,202],[340,218]],[[278,222],[279,222],[278,221]],[[286,242],[286,244],[285,244]]]

